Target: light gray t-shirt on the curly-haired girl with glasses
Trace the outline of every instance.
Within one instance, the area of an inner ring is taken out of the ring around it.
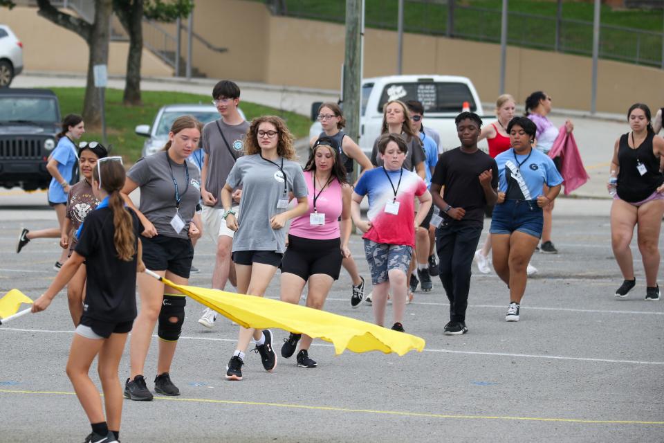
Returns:
[[[293,192],[296,198],[306,197],[302,167],[295,161],[283,161],[286,197],[288,192]],[[287,228],[275,230],[270,226],[270,218],[288,210],[277,209],[277,201],[284,196],[284,175],[279,170],[282,157],[274,163],[262,159],[258,154],[243,156],[228,174],[228,186],[242,188],[239,228],[233,237],[233,252],[286,251]]]

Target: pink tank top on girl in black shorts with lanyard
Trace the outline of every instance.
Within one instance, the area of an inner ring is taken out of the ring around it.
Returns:
[[[295,237],[303,237],[314,240],[329,240],[341,237],[339,229],[339,217],[343,206],[341,195],[341,183],[337,179],[333,179],[322,192],[316,186],[316,211],[319,214],[325,215],[325,224],[312,225],[309,221],[309,216],[313,214],[313,171],[304,172],[304,180],[306,181],[306,188],[308,190],[307,199],[309,201],[309,210],[304,215],[297,217],[291,221],[291,230],[289,234]],[[319,195],[320,193],[320,195]]]

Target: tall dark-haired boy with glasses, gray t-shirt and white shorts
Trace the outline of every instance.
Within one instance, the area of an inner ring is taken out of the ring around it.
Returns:
[[[240,102],[240,88],[230,80],[221,80],[212,89],[212,104],[216,106],[221,118],[203,127],[203,150],[205,159],[201,170],[201,198],[203,199],[204,231],[216,243],[212,288],[224,289],[230,280],[233,290],[237,291],[235,268],[230,260],[233,244],[233,231],[226,227],[221,204],[221,188],[226,183],[228,173],[235,161],[242,156],[244,137],[249,129],[237,110]],[[234,209],[237,210],[241,190],[233,193]],[[199,323],[212,327],[216,312],[205,309]]]

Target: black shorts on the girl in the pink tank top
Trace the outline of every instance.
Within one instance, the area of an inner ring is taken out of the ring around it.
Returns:
[[[325,274],[338,280],[343,258],[340,238],[317,240],[288,235],[282,273],[295,274],[304,281],[314,274]]]

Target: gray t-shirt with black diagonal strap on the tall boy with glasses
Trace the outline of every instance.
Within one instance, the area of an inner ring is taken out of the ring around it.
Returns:
[[[223,136],[228,141],[228,146],[219,133],[219,127]],[[216,197],[214,207],[223,208],[221,204],[221,188],[226,183],[228,173],[233,168],[236,159],[243,154],[244,138],[249,130],[249,123],[242,122],[231,126],[223,123],[223,119],[207,123],[203,127],[203,150],[208,155],[208,172],[205,177],[205,189],[212,192]]]

